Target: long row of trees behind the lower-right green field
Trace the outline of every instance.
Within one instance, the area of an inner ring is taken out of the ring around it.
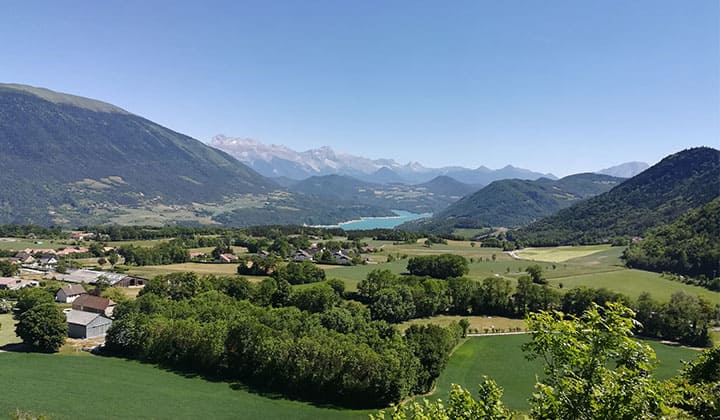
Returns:
[[[579,315],[594,303],[622,302],[636,310],[642,324],[635,329],[638,334],[694,346],[710,344],[710,329],[720,314],[717,305],[684,292],[674,293],[668,302],[648,293],[635,300],[605,288],[576,287],[561,293],[543,283],[537,267],[527,271],[513,287],[501,277],[441,280],[374,270],[358,284],[357,298],[368,305],[373,319],[392,323],[438,314],[521,318],[559,310]]]

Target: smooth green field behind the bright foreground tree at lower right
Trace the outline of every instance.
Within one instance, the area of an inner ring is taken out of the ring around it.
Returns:
[[[542,375],[540,360],[528,361],[520,346],[528,335],[469,338],[450,357],[447,368],[438,378],[435,392],[429,398],[447,399],[450,385],[460,384],[473,394],[483,375],[495,380],[504,389],[503,401],[511,409],[525,411],[533,392],[536,375]],[[685,347],[672,347],[647,341],[656,352],[659,365],[655,376],[667,379],[682,368],[682,360],[693,360],[699,352]]]

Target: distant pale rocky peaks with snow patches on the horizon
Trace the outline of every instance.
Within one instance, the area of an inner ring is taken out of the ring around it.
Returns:
[[[485,166],[468,169],[459,166],[428,168],[418,162],[397,163],[393,159],[368,159],[337,153],[330,147],[297,152],[285,146],[263,144],[247,138],[215,136],[210,145],[236,157],[267,177],[286,177],[296,180],[322,175],[347,175],[380,184],[419,184],[437,176],[450,176],[470,185],[483,186],[498,179],[556,179],[528,169],[507,165],[493,170]]]

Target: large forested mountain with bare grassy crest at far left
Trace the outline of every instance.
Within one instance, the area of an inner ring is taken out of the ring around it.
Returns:
[[[143,202],[219,201],[272,181],[224,152],[118,107],[0,84],[0,223]]]

